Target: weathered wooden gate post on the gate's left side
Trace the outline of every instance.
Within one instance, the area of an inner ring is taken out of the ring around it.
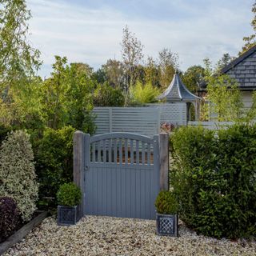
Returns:
[[[82,201],[78,206],[78,216],[82,218],[84,209],[84,162],[85,162],[85,134],[77,130],[73,137],[73,176],[74,183],[82,191]]]

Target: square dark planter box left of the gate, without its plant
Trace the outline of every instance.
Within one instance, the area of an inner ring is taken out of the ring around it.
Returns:
[[[58,225],[75,225],[78,220],[78,206],[58,206]]]

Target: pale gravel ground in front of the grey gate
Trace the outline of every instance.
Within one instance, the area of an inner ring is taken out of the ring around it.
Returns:
[[[76,226],[46,218],[3,256],[29,255],[256,255],[256,242],[198,236],[180,223],[178,238],[155,235],[155,221],[87,216]]]

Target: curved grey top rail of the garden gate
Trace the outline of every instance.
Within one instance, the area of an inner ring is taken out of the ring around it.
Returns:
[[[155,136],[158,135],[154,135]],[[126,138],[126,139],[134,139],[138,140],[141,142],[146,142],[146,143],[153,143],[154,138],[147,137],[145,135],[141,134],[133,134],[133,133],[125,133],[125,132],[114,132],[114,133],[109,133],[109,134],[99,134],[99,135],[94,135],[93,137],[90,138],[90,142],[98,142],[106,139],[113,139],[113,138]]]

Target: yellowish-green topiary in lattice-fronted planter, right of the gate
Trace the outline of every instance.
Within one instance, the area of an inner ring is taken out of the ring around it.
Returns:
[[[171,191],[161,191],[155,200],[158,235],[178,236],[178,202]]]

